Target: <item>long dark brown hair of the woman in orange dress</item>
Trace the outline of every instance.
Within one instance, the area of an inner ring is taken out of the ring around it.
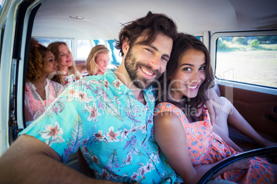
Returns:
[[[206,62],[206,68],[205,68],[205,74],[206,78],[199,87],[198,94],[194,98],[189,98],[186,96],[183,96],[183,100],[185,104],[181,104],[180,102],[174,102],[168,98],[168,94],[170,93],[170,83],[172,82],[172,77],[176,74],[179,63],[183,55],[186,53],[189,49],[196,49],[198,51],[203,51],[205,54],[205,62]],[[187,112],[193,112],[193,111],[186,111],[188,109],[186,108],[195,108],[195,111],[197,108],[203,107],[206,100],[208,100],[207,95],[205,91],[207,89],[214,86],[214,74],[212,71],[212,65],[209,58],[209,51],[205,47],[205,45],[195,36],[192,36],[190,34],[184,34],[184,33],[178,33],[178,36],[176,40],[174,41],[174,45],[172,48],[172,54],[170,57],[169,62],[167,62],[167,67],[165,70],[165,73],[159,78],[159,84],[158,86],[155,86],[156,89],[161,89],[156,91],[157,95],[157,102],[171,102],[172,104],[178,106],[182,109],[182,111],[185,113],[185,115],[192,118],[192,120],[195,120],[195,114],[187,113]]]

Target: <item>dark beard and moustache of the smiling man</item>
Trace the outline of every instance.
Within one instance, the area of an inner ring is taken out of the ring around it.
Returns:
[[[154,75],[156,75],[156,78],[150,80],[147,78],[143,78],[143,76],[139,76],[138,69],[140,67],[145,67],[145,69],[152,71],[154,73]],[[129,49],[129,51],[127,52],[126,57],[125,57],[125,68],[127,70],[127,73],[129,74],[130,79],[132,80],[134,86],[139,89],[149,88],[150,86],[152,86],[152,84],[154,84],[154,82],[156,82],[156,79],[158,79],[161,76],[161,72],[159,70],[153,70],[152,67],[150,67],[150,65],[145,65],[145,64],[137,61],[136,56],[134,56],[134,54],[132,54],[131,48]]]

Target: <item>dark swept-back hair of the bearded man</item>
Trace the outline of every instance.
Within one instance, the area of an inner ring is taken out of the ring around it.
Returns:
[[[122,45],[125,38],[129,39],[129,45],[132,47],[140,36],[145,36],[145,39],[137,44],[148,45],[155,40],[158,34],[164,34],[175,40],[176,23],[165,14],[148,12],[146,16],[140,19],[123,24],[123,28],[119,32],[119,40],[115,41],[115,47],[120,50],[121,56],[123,56]]]

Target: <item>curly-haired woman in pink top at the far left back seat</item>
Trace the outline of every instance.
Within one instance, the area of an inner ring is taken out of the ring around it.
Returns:
[[[64,87],[47,77],[57,71],[57,62],[52,52],[31,38],[30,54],[25,83],[25,121],[37,119]]]

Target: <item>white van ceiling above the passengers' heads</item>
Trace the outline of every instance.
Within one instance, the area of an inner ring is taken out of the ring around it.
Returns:
[[[276,7],[276,0],[45,0],[34,19],[32,36],[118,38],[121,23],[148,11],[167,14],[178,31],[194,35],[277,28]],[[70,19],[70,15],[84,19]]]

